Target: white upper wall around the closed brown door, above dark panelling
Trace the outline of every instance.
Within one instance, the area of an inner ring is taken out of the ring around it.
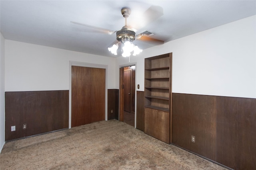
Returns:
[[[103,64],[115,87],[115,59],[41,45],[5,41],[5,91],[69,90],[69,61]]]

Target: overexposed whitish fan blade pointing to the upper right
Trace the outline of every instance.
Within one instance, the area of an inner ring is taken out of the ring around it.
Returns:
[[[130,25],[138,30],[160,18],[162,15],[164,15],[164,12],[161,6],[150,6],[139,20],[135,21],[135,23],[131,23]]]

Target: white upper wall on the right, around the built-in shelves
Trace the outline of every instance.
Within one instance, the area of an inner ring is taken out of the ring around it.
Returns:
[[[256,16],[208,29],[131,56],[144,91],[144,58],[172,52],[172,92],[256,98]],[[118,67],[128,64],[118,57]],[[119,75],[116,75],[116,87]]]

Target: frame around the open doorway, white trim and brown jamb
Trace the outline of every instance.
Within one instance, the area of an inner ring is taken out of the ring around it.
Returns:
[[[135,66],[135,70],[137,68],[137,63],[128,63],[128,64],[124,64],[124,65],[119,65],[119,121],[124,121],[124,89],[122,84],[124,84],[124,67],[129,67],[129,66]],[[137,71],[135,71],[135,94],[134,94],[134,127],[136,128],[136,120],[137,120]]]

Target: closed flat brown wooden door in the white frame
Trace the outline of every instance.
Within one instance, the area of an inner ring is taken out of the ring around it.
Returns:
[[[105,77],[103,68],[72,66],[72,127],[105,119]]]

